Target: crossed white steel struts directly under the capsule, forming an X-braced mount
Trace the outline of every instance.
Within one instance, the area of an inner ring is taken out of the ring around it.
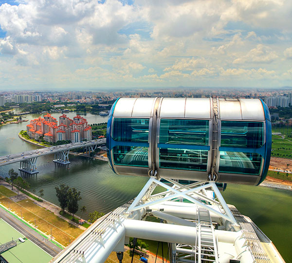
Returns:
[[[145,186],[143,187],[139,195],[134,199],[134,201],[128,208],[127,213],[129,214],[133,211],[140,210],[143,208],[147,209],[153,205],[164,203],[165,201],[168,201],[168,200],[184,198],[208,210],[209,212],[217,214],[218,216],[224,218],[225,220],[231,222],[232,224],[237,225],[236,219],[231,213],[228,205],[226,204],[224,198],[219,192],[219,189],[214,181],[208,181],[208,182],[201,181],[201,182],[195,182],[188,185],[182,185],[171,179],[165,179],[165,180],[172,183],[173,186],[169,186],[165,184],[164,182],[157,180],[154,177],[150,177],[150,179],[147,181],[147,183],[145,184]],[[165,189],[167,189],[167,191],[151,196],[151,193],[154,191],[155,187],[158,185],[164,187]],[[203,190],[207,188],[211,188],[214,191],[217,197],[217,200],[206,197],[203,194],[204,193]],[[195,197],[200,197],[201,200]],[[223,209],[224,214],[219,212],[218,210],[213,209],[210,206],[207,206],[205,202],[209,202],[217,206],[220,206],[221,207],[220,210]]]

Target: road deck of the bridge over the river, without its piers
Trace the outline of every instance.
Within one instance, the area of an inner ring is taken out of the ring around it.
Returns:
[[[5,155],[0,157],[0,166],[13,164],[21,161],[25,161],[27,159],[36,158],[42,155],[48,155],[57,153],[60,151],[71,150],[76,148],[85,148],[87,146],[100,146],[105,145],[106,139],[98,139],[98,140],[91,140],[86,142],[79,142],[79,143],[70,143],[70,144],[63,144],[59,146],[52,146],[52,147],[45,147],[37,150],[30,150],[25,151],[22,153],[15,153],[10,155]]]

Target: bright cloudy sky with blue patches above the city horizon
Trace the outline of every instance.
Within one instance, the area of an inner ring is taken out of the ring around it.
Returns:
[[[292,86],[292,0],[0,0],[0,89]]]

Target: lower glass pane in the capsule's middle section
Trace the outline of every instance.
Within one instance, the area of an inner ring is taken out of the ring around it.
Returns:
[[[208,151],[160,148],[160,167],[182,170],[207,170]]]

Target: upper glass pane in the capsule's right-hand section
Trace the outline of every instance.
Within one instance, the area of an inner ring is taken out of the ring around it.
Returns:
[[[263,122],[221,121],[222,147],[259,148],[263,146]]]

